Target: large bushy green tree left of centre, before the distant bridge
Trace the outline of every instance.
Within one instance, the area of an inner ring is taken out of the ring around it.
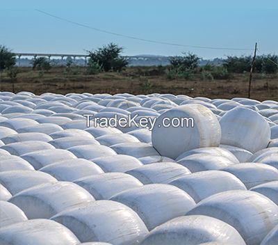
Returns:
[[[99,65],[105,72],[114,71],[120,72],[126,65],[129,64],[126,58],[120,54],[123,51],[123,47],[110,43],[104,45],[95,51],[89,52],[89,64]]]

